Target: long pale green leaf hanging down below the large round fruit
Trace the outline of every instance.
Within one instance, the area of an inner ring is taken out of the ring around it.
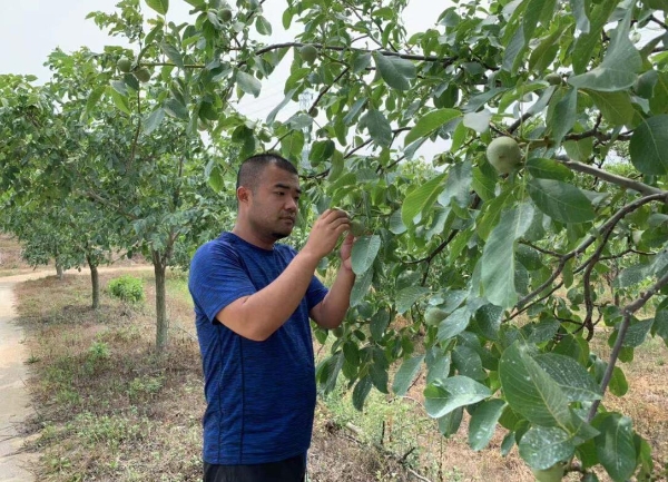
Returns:
[[[501,215],[484,245],[481,265],[481,282],[484,297],[492,304],[509,308],[518,302],[514,284],[514,246],[533,219],[533,208],[522,204]]]

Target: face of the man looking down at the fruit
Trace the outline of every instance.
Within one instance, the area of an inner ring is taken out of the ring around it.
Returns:
[[[299,179],[296,175],[268,165],[257,187],[250,191],[247,216],[261,237],[277,240],[292,233],[298,209]]]

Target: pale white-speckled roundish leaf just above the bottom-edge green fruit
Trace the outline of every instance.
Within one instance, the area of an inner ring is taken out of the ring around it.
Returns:
[[[520,456],[534,470],[546,470],[570,459],[576,446],[568,433],[553,426],[532,426],[519,443]]]

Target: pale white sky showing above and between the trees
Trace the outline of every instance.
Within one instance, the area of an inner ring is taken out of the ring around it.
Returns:
[[[92,51],[101,51],[106,45],[122,45],[121,38],[107,36],[98,29],[92,19],[86,19],[91,11],[112,12],[116,3],[118,0],[0,0],[0,40],[3,46],[0,49],[0,73],[31,73],[43,82],[50,77],[50,71],[43,63],[57,47],[71,52],[82,46]],[[448,1],[441,0],[442,7],[439,12],[446,3]],[[150,11],[144,1],[143,7]],[[281,24],[285,7],[285,0],[264,2],[264,16],[274,27],[274,35],[264,38],[266,42],[294,39],[294,22],[292,31],[288,32],[285,32]],[[188,14],[189,9],[190,6],[184,0],[171,0],[167,20],[177,23],[193,21],[195,17]],[[434,11],[433,0],[411,0],[403,18],[409,35],[433,26],[435,17],[425,16],[425,11]],[[426,21],[426,18],[431,21]],[[245,96],[239,109],[248,117],[266,119],[283,100],[283,86],[288,68],[289,61],[284,59],[275,72],[276,77],[271,83],[263,86],[261,96]],[[296,105],[292,108],[287,106],[279,118],[285,119],[297,108]],[[431,150],[433,149],[426,148],[422,154],[431,156]]]

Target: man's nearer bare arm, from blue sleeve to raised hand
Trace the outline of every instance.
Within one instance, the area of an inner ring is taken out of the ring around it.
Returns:
[[[216,318],[246,338],[263,342],[297,309],[320,260],[350,228],[345,213],[325,212],[313,225],[304,248],[269,285],[224,307]]]

